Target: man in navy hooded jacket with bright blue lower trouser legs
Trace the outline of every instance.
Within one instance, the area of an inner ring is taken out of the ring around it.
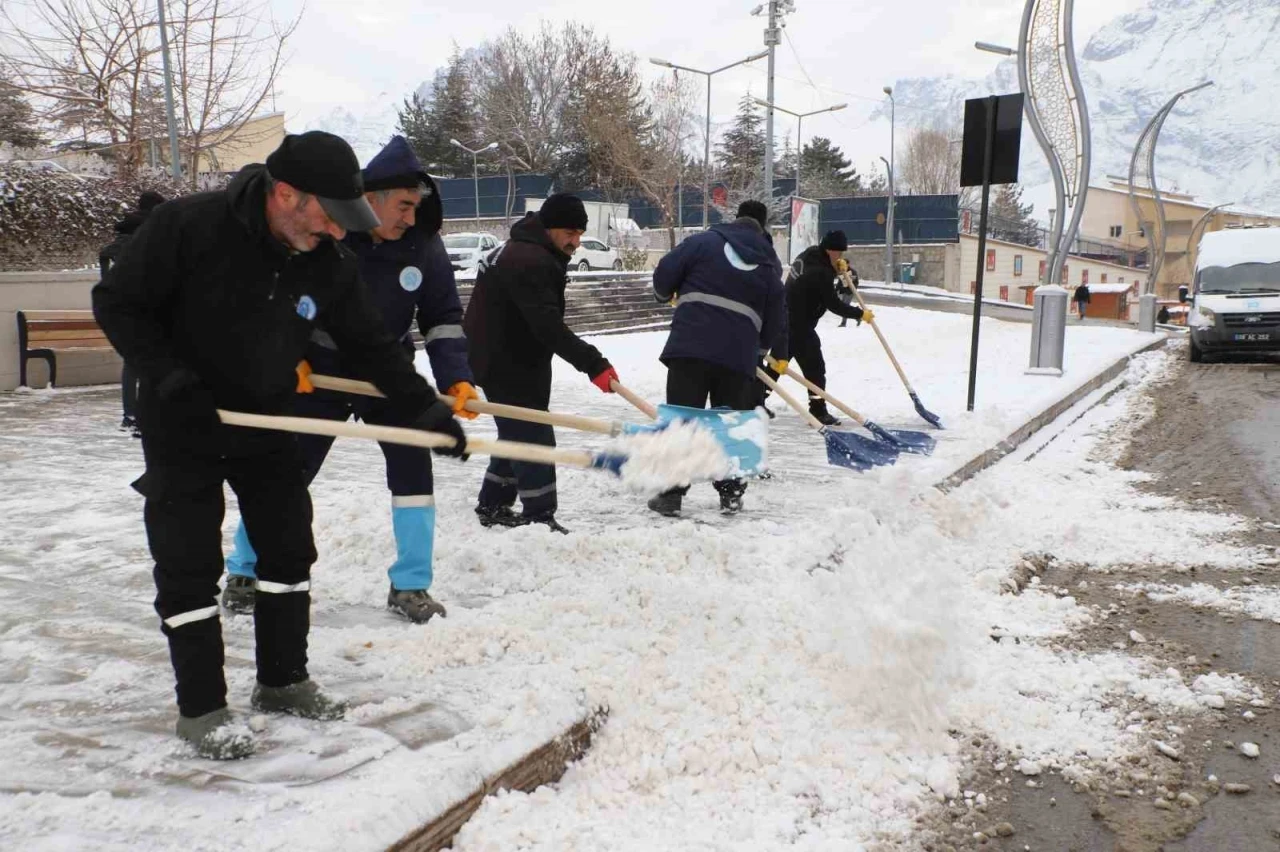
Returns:
[[[443,212],[440,196],[403,137],[392,137],[378,156],[362,170],[365,197],[378,215],[371,232],[348,233],[343,244],[355,252],[360,276],[369,288],[383,321],[412,357],[410,330],[415,316],[425,339],[435,384],[454,398],[458,417],[474,420],[462,407],[477,399],[467,365],[467,342],[462,333],[462,303],[453,278],[453,266],[440,238]],[[323,331],[312,335],[307,362],[317,374],[348,376],[334,342]],[[328,390],[310,390],[297,400],[300,417],[348,420],[390,425],[385,404]],[[300,435],[307,482],[320,472],[333,445],[333,438]],[[411,622],[424,623],[445,610],[428,588],[433,580],[435,542],[435,498],[429,450],[379,443],[387,461],[387,486],[392,493],[392,531],[396,535],[396,562],[388,574],[390,592],[387,606]],[[232,611],[252,611],[257,555],[244,532],[236,530],[234,550],[227,559],[227,588],[223,606]]]

